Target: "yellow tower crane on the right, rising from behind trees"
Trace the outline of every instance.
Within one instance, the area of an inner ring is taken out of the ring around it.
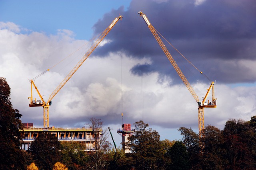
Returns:
[[[196,92],[193,90],[192,86],[190,85],[190,83],[188,82],[188,80],[186,79],[186,77],[184,76],[184,74],[182,73],[182,71],[180,70],[180,68],[178,67],[178,65],[174,61],[174,59],[172,58],[172,55],[169,53],[168,49],[166,48],[166,46],[162,42],[162,40],[161,40],[160,36],[158,35],[156,29],[152,26],[152,24],[150,23],[150,21],[148,20],[148,18],[146,17],[146,15],[142,11],[138,12],[138,14],[140,14],[140,16],[146,22],[146,24],[148,25],[148,28],[150,29],[151,33],[154,35],[156,41],[158,42],[158,44],[160,45],[160,47],[164,51],[164,53],[167,56],[167,58],[169,59],[170,63],[172,64],[172,66],[174,67],[174,69],[176,70],[178,75],[180,76],[181,80],[184,82],[184,84],[188,88],[189,92],[192,94],[192,96],[196,100],[196,102],[198,104],[198,129],[199,129],[199,135],[201,136],[201,134],[202,134],[201,131],[202,131],[202,129],[204,129],[204,108],[205,107],[207,107],[207,108],[215,108],[216,107],[216,100],[217,99],[214,98],[214,82],[211,82],[210,87],[207,89],[206,95],[204,96],[203,100],[200,101],[198,99],[198,96],[196,95]],[[202,72],[200,72],[200,73],[202,74]],[[209,100],[206,101],[206,98],[210,94],[210,90],[212,90],[212,100],[211,101],[209,101]]]

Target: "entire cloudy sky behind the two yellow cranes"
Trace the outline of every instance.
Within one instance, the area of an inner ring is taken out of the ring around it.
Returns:
[[[224,128],[250,120],[256,109],[254,0],[0,0],[0,77],[23,123],[43,126],[43,108],[28,107],[29,80],[48,100],[112,21],[112,28],[52,99],[49,125],[83,127],[91,117],[116,133],[143,120],[161,140],[180,140],[180,127],[198,132],[198,105],[138,12],[143,11],[201,100],[214,81],[216,108],[204,124]],[[33,98],[39,99],[33,90]],[[123,117],[121,116],[123,113]],[[111,141],[111,138],[109,138]],[[120,145],[119,145],[120,146]]]

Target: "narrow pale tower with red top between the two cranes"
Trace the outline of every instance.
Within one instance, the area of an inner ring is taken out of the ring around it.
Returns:
[[[131,124],[122,124],[122,128],[117,130],[117,133],[122,135],[122,149],[125,153],[130,153],[130,149],[126,147],[126,143],[129,141],[127,138],[134,133],[134,129],[131,129]]]

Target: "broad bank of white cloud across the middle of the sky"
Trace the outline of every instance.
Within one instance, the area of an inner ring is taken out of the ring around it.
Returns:
[[[0,76],[7,79],[12,92],[12,104],[20,110],[22,120],[33,121],[35,125],[42,124],[43,108],[28,107],[28,79],[58,63],[85,43],[72,36],[72,33],[47,36],[37,32],[26,35],[0,30]],[[82,57],[81,54],[76,56]],[[144,60],[150,63],[149,60]],[[54,68],[36,79],[35,83],[45,100],[48,100],[50,93],[76,62],[72,66],[62,66],[62,69]],[[50,125],[51,122],[58,122],[58,125],[73,127],[79,122],[83,123],[88,117],[112,117],[123,111],[126,120],[133,121],[131,124],[143,119],[145,123],[150,122],[150,125],[158,129],[178,129],[182,126],[197,129],[197,104],[182,81],[181,84],[168,86],[167,79],[158,84],[156,72],[143,78],[133,76],[130,68],[140,62],[122,52],[110,53],[104,58],[92,54],[52,100]],[[191,84],[200,99],[209,85],[210,83],[200,82]],[[249,120],[255,111],[255,91],[255,87],[232,88],[216,84],[217,108],[205,109],[205,125],[223,128],[228,118]]]

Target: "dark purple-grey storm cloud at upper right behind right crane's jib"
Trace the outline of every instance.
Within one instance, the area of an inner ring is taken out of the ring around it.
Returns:
[[[210,78],[224,83],[254,82],[255,68],[248,68],[240,61],[250,63],[256,59],[255,1],[206,0],[200,5],[194,2],[134,0],[128,11],[123,8],[112,10],[94,25],[95,34],[100,33],[119,13],[124,18],[108,35],[112,43],[98,48],[96,54],[104,56],[109,52],[124,51],[131,57],[146,57],[152,61],[152,67],[160,75],[174,76],[174,80],[180,82],[146,23],[139,16],[138,11],[143,10],[155,29]],[[169,51],[174,59],[179,56],[174,49]],[[183,68],[183,65],[188,66],[189,63],[175,60],[187,76],[191,71]],[[135,68],[138,67],[134,66],[132,70]],[[245,72],[248,73],[246,76]],[[195,78],[189,81],[193,80]]]

